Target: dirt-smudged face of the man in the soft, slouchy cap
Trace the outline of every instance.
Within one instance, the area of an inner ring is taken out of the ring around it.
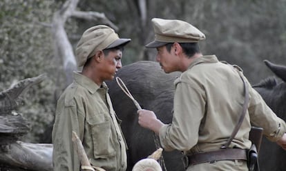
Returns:
[[[122,50],[112,50],[104,55],[101,66],[102,81],[114,79],[117,70],[122,68],[121,59]]]

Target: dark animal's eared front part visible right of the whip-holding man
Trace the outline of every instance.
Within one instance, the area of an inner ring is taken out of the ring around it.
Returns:
[[[282,81],[278,81],[276,77],[269,77],[253,87],[278,117],[286,121],[286,67],[275,65],[266,60],[265,64]],[[263,137],[259,156],[261,171],[286,170],[286,151],[265,137]]]

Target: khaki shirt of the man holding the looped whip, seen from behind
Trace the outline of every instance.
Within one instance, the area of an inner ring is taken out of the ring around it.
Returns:
[[[160,129],[162,147],[186,154],[218,150],[231,136],[245,101],[238,69],[214,55],[199,57],[174,84],[173,121]],[[286,132],[285,121],[249,84],[249,108],[231,148],[250,148],[251,125],[264,128],[271,141]]]

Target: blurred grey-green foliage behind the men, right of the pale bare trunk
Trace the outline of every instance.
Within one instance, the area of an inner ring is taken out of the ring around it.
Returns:
[[[118,28],[121,37],[130,37],[126,47],[126,65],[144,59],[144,44],[153,39],[151,19],[182,19],[198,27],[207,36],[200,44],[203,54],[216,54],[220,60],[238,64],[251,83],[272,75],[263,63],[285,61],[286,1],[178,0],[146,1],[147,23],[142,24],[138,1],[82,0],[79,8],[104,12]],[[97,23],[83,23],[81,27]],[[86,29],[86,28],[84,28]],[[151,50],[147,50],[151,52]],[[151,52],[155,60],[155,52]]]

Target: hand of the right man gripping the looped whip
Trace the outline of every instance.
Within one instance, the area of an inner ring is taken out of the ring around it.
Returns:
[[[159,119],[157,119],[155,113],[151,110],[137,110],[138,123],[143,128],[153,130],[155,134],[159,134],[160,128],[164,125]]]

